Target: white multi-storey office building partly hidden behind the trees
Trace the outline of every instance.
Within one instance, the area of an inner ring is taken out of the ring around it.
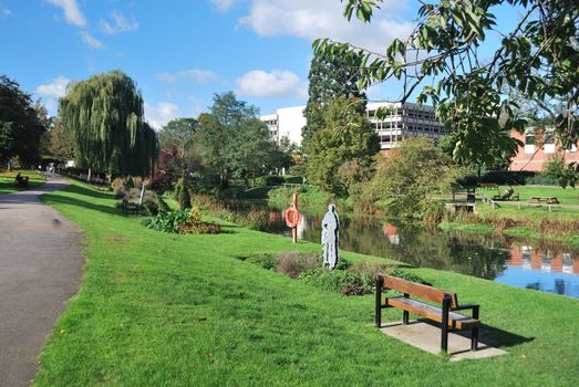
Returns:
[[[384,119],[376,118],[376,111],[386,108]],[[271,136],[279,142],[288,137],[294,144],[301,144],[301,129],[306,126],[303,109],[306,106],[285,107],[277,109],[276,114],[261,116]],[[434,108],[426,105],[411,103],[369,103],[366,114],[370,123],[380,136],[382,150],[396,147],[405,137],[425,136],[437,138],[443,136],[444,127],[434,117]]]

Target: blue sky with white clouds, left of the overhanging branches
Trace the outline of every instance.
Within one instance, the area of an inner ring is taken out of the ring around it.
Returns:
[[[120,69],[156,127],[207,111],[234,91],[262,114],[306,103],[318,36],[380,50],[413,27],[416,2],[386,1],[372,24],[348,23],[339,0],[0,0],[0,74],[51,114],[71,80]],[[394,98],[385,85],[371,100]]]

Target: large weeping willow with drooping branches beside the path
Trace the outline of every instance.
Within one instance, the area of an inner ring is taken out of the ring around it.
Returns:
[[[76,145],[76,163],[108,176],[151,176],[158,155],[155,130],[143,119],[143,97],[121,71],[71,83],[59,116]]]

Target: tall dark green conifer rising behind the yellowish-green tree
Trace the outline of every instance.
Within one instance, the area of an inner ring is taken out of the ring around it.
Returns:
[[[303,111],[307,124],[301,130],[304,147],[308,147],[316,133],[325,126],[325,109],[335,97],[351,95],[361,100],[361,113],[365,112],[366,101],[365,94],[358,87],[358,71],[340,56],[332,56],[322,51],[316,52],[308,80],[308,103]]]

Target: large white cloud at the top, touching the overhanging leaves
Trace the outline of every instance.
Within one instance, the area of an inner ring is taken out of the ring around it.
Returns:
[[[406,7],[407,0],[382,3],[372,23],[364,24],[358,20],[348,22],[343,3],[337,0],[252,0],[249,14],[240,23],[260,35],[331,38],[383,51],[392,39],[404,38],[414,28],[414,23],[396,18]]]

